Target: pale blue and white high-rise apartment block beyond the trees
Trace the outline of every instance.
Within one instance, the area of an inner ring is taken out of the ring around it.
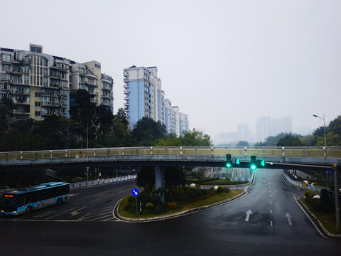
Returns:
[[[150,117],[166,125],[168,133],[180,136],[188,131],[188,116],[180,113],[178,106],[172,106],[171,100],[165,99],[158,68],[136,67],[124,69],[124,111],[130,129],[139,119]]]

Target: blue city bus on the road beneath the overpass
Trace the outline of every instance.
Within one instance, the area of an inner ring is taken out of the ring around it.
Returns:
[[[18,188],[4,193],[2,210],[5,215],[31,213],[32,210],[52,206],[70,198],[70,184],[63,182],[41,183],[31,188]]]

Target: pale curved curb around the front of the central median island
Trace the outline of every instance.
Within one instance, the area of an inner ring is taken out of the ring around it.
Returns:
[[[207,205],[207,206],[200,206],[200,207],[189,209],[189,210],[183,210],[183,211],[180,211],[178,213],[171,213],[168,215],[156,216],[156,217],[147,217],[147,218],[127,218],[127,217],[122,216],[121,214],[119,214],[119,211],[117,210],[119,208],[119,204],[121,203],[121,200],[120,200],[119,203],[117,203],[115,212],[121,220],[126,220],[126,221],[140,222],[140,221],[150,221],[150,220],[164,220],[164,219],[168,219],[168,218],[178,217],[178,216],[184,215],[184,214],[195,213],[195,212],[200,211],[200,210],[206,210],[207,208],[211,208],[213,206],[218,206],[218,205],[221,205],[223,203],[233,201],[234,199],[237,199],[241,196],[244,196],[246,193],[247,193],[246,191],[243,191],[242,193],[239,193],[236,196],[232,196],[232,198],[227,198],[227,199],[225,199],[223,201],[219,201],[217,203],[211,203],[210,205]]]

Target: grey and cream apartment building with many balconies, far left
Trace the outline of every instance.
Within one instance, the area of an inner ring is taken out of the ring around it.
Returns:
[[[0,99],[13,100],[16,119],[69,117],[70,93],[78,89],[90,92],[97,105],[113,109],[113,80],[96,61],[76,63],[45,54],[43,46],[34,44],[29,50],[0,48],[0,74]]]

